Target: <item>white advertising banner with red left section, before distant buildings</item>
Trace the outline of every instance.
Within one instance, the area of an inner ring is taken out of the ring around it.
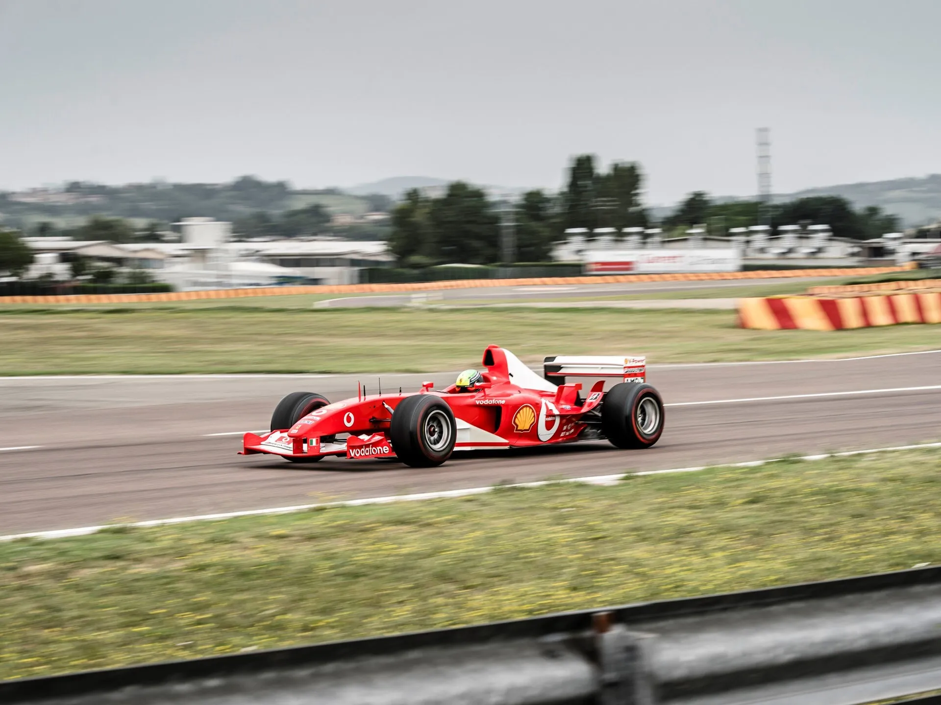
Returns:
[[[742,251],[736,248],[588,250],[584,259],[587,274],[680,274],[742,269]]]

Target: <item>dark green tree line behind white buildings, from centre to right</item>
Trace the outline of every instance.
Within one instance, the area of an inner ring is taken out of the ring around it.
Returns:
[[[517,262],[549,259],[567,228],[585,228],[591,240],[593,231],[603,227],[614,228],[616,237],[625,227],[662,227],[669,238],[698,225],[724,236],[732,227],[806,222],[829,225],[837,237],[867,240],[900,227],[897,216],[875,206],[855,211],[840,196],[811,196],[763,207],[758,200],[714,201],[704,191],[687,196],[658,222],[646,209],[643,193],[640,164],[615,162],[599,170],[591,154],[571,161],[566,187],[558,194],[528,191],[515,203],[489,199],[482,189],[464,181],[449,184],[438,197],[413,189],[392,211],[390,249],[404,267],[494,264],[505,257],[501,250],[505,223],[514,230]]]

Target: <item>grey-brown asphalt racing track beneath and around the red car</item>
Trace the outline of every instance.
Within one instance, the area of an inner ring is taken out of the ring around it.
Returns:
[[[386,390],[452,373],[383,375]],[[359,375],[369,392],[375,376]],[[941,437],[941,352],[704,366],[651,366],[667,427],[649,450],[607,443],[468,453],[439,468],[389,461],[295,465],[241,457],[296,389],[355,394],[355,375],[0,378],[0,535],[114,521],[263,509],[354,497],[604,475],[788,453],[897,446]],[[802,394],[837,396],[796,399]],[[699,403],[728,401],[728,403]],[[690,403],[696,402],[696,403]],[[230,435],[209,435],[229,433]],[[32,449],[3,448],[39,446]]]

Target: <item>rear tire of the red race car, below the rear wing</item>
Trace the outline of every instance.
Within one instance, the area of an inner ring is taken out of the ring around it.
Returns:
[[[601,432],[619,448],[648,448],[663,433],[663,401],[649,384],[614,384],[601,403]]]

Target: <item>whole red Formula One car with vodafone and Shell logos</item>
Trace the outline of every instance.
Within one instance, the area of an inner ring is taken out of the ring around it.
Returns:
[[[645,384],[643,357],[545,359],[540,377],[516,355],[491,345],[486,371],[436,391],[425,383],[411,394],[378,394],[330,403],[313,392],[281,399],[271,431],[246,433],[242,455],[270,453],[289,461],[325,456],[397,458],[413,467],[448,460],[455,450],[548,446],[607,439],[621,448],[646,448],[663,432],[663,402]],[[596,378],[586,396],[569,377]],[[620,378],[608,391],[604,378]]]

